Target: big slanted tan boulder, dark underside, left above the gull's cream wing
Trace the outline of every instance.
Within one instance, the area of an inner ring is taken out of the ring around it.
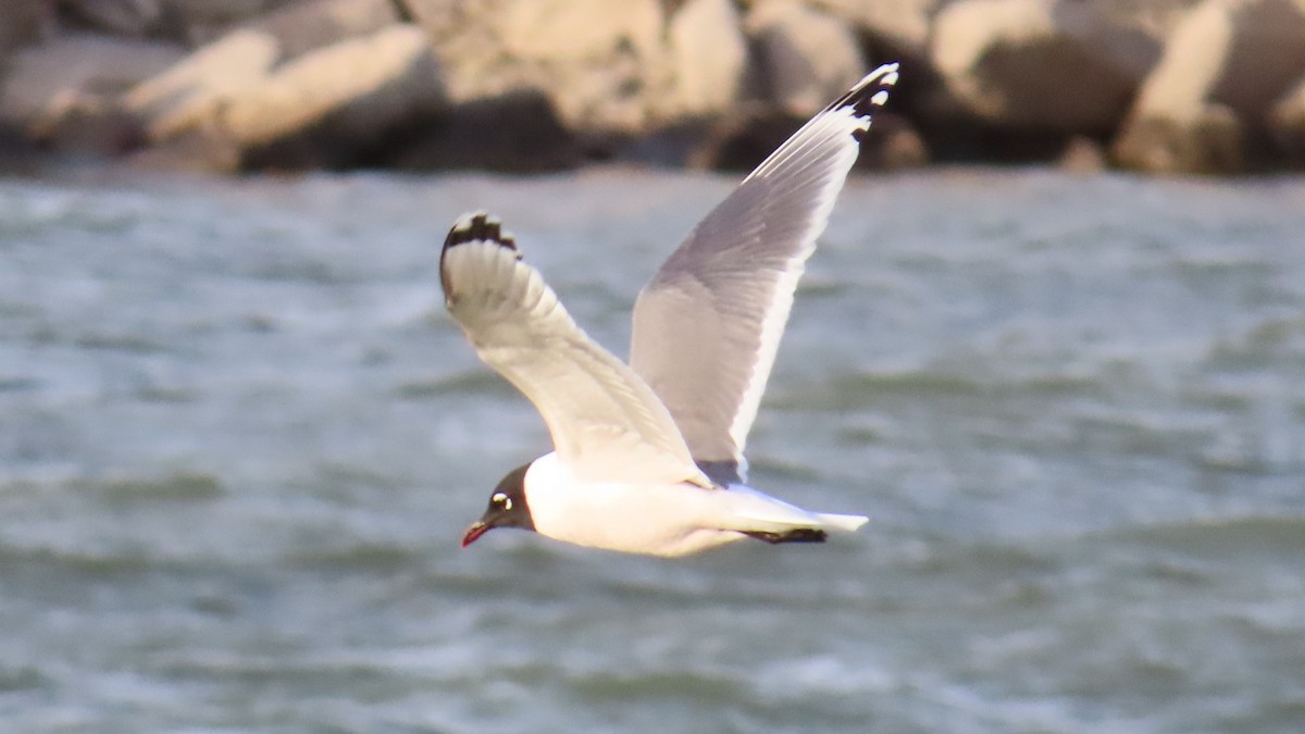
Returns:
[[[217,125],[252,167],[348,166],[446,103],[415,25],[395,24],[290,61],[222,106]]]

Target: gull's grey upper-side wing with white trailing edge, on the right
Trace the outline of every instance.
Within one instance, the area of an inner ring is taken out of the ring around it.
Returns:
[[[718,482],[741,479],[748,430],[804,264],[898,65],[867,74],[744,179],[634,306],[630,367]]]

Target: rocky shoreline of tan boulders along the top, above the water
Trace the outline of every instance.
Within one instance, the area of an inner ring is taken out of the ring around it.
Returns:
[[[1305,0],[10,0],[0,170],[740,168],[887,60],[870,167],[1305,168]]]

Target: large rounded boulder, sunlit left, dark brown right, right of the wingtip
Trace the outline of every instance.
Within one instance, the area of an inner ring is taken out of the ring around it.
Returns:
[[[977,118],[1007,128],[1114,129],[1159,42],[1079,0],[960,0],[944,9],[933,63]]]

